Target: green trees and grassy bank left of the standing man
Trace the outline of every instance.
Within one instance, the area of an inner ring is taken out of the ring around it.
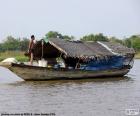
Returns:
[[[24,52],[28,50],[28,44],[27,38],[8,36],[0,43],[0,61],[9,57],[14,57],[21,62],[29,61],[29,58],[24,56]]]

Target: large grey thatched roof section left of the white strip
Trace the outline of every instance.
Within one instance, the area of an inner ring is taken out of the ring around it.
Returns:
[[[112,55],[97,42],[65,41],[62,39],[50,39],[49,42],[69,57]]]

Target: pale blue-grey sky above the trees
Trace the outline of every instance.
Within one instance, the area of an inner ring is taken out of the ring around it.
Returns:
[[[8,35],[40,39],[48,31],[140,34],[140,0],[0,0],[0,41]]]

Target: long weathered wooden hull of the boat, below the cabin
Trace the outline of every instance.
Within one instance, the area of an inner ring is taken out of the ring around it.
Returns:
[[[120,69],[102,70],[102,71],[87,71],[81,69],[66,69],[66,68],[46,68],[39,66],[30,66],[24,64],[6,64],[1,65],[8,68],[17,76],[24,80],[52,80],[52,79],[81,79],[81,78],[96,78],[96,77],[122,77],[129,72],[128,67]]]

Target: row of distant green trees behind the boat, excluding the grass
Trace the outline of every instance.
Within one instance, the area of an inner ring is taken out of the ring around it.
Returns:
[[[49,31],[45,38],[60,38],[64,40],[75,40],[74,36],[62,35],[56,31]],[[140,35],[132,35],[128,38],[118,39],[116,37],[107,37],[102,33],[89,34],[80,38],[81,41],[110,41],[123,44],[129,48],[133,47],[136,51],[140,51]],[[0,52],[4,51],[27,51],[30,39],[28,38],[14,38],[8,36],[3,42],[0,43]]]

